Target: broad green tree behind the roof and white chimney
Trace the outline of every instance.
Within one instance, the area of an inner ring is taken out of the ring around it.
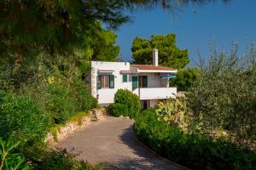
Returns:
[[[152,64],[154,48],[159,51],[160,65],[180,69],[189,63],[188,50],[177,48],[174,34],[153,35],[150,40],[136,37],[131,47],[133,63]]]

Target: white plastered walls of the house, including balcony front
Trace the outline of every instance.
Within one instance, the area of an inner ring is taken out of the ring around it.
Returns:
[[[111,73],[98,73],[99,70],[111,70]],[[130,71],[129,62],[102,62],[92,61],[91,62],[91,94],[97,98],[99,104],[110,104],[113,103],[113,97],[119,88],[128,89],[132,91],[131,77],[137,75],[128,75],[128,81],[123,82],[123,75],[120,71]],[[101,88],[96,89],[96,78],[98,74],[111,74],[114,75],[114,88]],[[150,105],[157,103],[158,99],[166,99],[174,97],[173,94],[177,94],[177,88],[160,88],[164,82],[154,73],[140,73],[140,76],[148,76],[148,88],[137,88],[133,91],[134,94],[140,95],[140,99],[153,99],[150,101]],[[172,94],[173,93],[173,94]]]

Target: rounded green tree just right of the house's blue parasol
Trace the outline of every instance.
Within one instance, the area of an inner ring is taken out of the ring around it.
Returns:
[[[177,77],[170,82],[170,86],[176,86],[180,91],[187,91],[200,75],[201,70],[197,67],[178,70]]]

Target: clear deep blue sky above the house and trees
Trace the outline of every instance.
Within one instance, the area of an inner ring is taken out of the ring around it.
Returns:
[[[188,48],[189,58],[195,62],[198,62],[198,51],[207,58],[209,43],[213,40],[218,48],[227,51],[232,42],[239,42],[239,54],[244,54],[246,43],[256,41],[255,8],[256,0],[231,0],[227,5],[220,2],[200,7],[189,5],[176,14],[161,8],[130,14],[133,22],[116,31],[120,57],[131,59],[134,37],[149,38],[153,34],[168,33],[177,35],[177,47]],[[193,62],[189,66],[193,66]]]

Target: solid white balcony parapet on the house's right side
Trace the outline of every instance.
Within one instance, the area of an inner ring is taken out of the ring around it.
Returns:
[[[140,99],[168,99],[175,98],[177,88],[137,88],[133,92]]]

